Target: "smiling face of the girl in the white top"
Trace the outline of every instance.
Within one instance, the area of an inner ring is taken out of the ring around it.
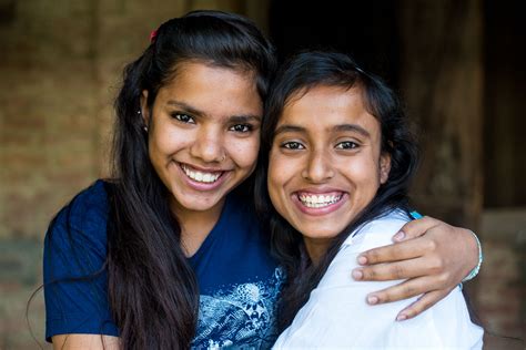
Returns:
[[[269,194],[314,260],[387,181],[381,140],[360,89],[314,86],[285,105],[270,154]]]

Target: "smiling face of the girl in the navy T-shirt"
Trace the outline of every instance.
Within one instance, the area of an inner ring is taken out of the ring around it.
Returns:
[[[173,195],[179,218],[190,212],[220,213],[226,194],[253,172],[260,147],[262,101],[249,72],[199,62],[178,65],[151,111],[149,154]]]

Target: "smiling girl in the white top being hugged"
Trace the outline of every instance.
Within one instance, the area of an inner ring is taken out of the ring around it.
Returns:
[[[482,348],[459,288],[396,322],[416,298],[371,307],[367,294],[396,281],[348,276],[411,219],[416,146],[381,80],[341,53],[299,54],[271,89],[262,134],[256,198],[286,275],[275,349]]]

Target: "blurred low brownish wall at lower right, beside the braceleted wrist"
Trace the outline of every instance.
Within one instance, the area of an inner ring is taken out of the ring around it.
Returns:
[[[525,349],[526,208],[486,209],[481,237],[485,261],[475,301],[490,333],[488,349]]]

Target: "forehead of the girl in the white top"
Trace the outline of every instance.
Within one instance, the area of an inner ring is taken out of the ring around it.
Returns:
[[[320,131],[350,123],[378,127],[377,120],[365,109],[362,89],[320,85],[294,93],[277,126],[297,124]]]

